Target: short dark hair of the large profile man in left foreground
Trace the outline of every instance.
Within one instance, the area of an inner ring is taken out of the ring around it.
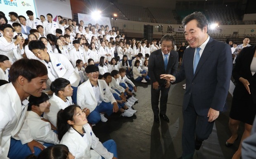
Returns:
[[[31,42],[37,41],[32,40]],[[31,44],[31,42],[29,42],[29,44]],[[9,80],[11,82],[15,82],[19,76],[23,76],[28,80],[28,82],[30,82],[36,77],[42,77],[47,74],[47,68],[41,61],[35,59],[21,58],[20,60],[15,61],[12,64],[9,70]]]

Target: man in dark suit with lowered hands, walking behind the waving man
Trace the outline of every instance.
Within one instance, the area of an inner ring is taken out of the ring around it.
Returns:
[[[161,49],[153,51],[149,56],[149,77],[151,81],[151,105],[154,112],[154,121],[159,123],[159,115],[166,122],[169,122],[166,116],[166,104],[168,92],[171,86],[170,81],[160,79],[161,74],[175,74],[178,69],[178,52],[172,50],[175,45],[175,39],[172,35],[164,35],[161,39]],[[159,96],[160,111],[159,111]],[[160,112],[160,114],[159,114]]]

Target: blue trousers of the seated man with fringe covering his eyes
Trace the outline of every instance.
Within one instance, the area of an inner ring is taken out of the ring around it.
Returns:
[[[101,112],[105,112],[107,113],[108,116],[110,116],[113,113],[113,105],[108,102],[103,102],[100,103],[100,105],[97,105],[97,107],[95,108],[95,110],[93,110],[92,112],[90,112],[90,114],[87,117],[88,123],[90,124],[96,124],[98,122],[100,122],[101,118],[100,118],[100,113]]]

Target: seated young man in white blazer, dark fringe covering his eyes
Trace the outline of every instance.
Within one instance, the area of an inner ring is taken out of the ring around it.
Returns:
[[[111,94],[107,83],[99,78],[99,68],[96,65],[88,65],[85,68],[89,80],[78,87],[77,104],[81,108],[90,109],[87,117],[90,124],[96,124],[101,120],[100,113],[111,115],[119,110],[116,99]]]

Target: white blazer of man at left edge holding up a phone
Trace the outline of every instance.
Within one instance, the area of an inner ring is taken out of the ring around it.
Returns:
[[[15,41],[12,39],[12,42],[9,43],[4,36],[0,37],[0,55],[7,56],[12,63],[21,59],[21,54],[24,54],[24,49],[20,49],[19,44],[15,45]]]

